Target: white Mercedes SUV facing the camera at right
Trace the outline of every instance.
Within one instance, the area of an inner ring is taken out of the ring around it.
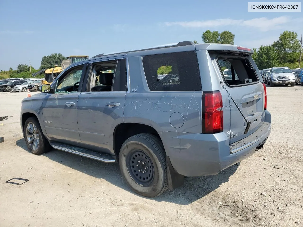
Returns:
[[[288,67],[273,67],[269,71],[268,84],[274,87],[277,84],[289,84],[291,87],[295,86],[295,75]]]

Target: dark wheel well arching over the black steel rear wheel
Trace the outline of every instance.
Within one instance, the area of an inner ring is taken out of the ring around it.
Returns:
[[[114,130],[113,146],[115,154],[119,155],[121,146],[125,140],[140,133],[149,133],[161,140],[158,132],[151,126],[139,123],[122,123]]]

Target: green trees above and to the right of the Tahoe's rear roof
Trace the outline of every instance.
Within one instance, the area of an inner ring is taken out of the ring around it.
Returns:
[[[203,32],[201,38],[204,43],[234,44],[235,35],[230,31],[219,33],[207,30]],[[195,40],[194,43],[197,44],[198,41]],[[300,48],[298,34],[294,31],[284,31],[271,45],[261,45],[258,50],[254,47],[252,58],[259,69],[283,66],[295,69],[299,67]],[[302,60],[303,56],[301,62]]]

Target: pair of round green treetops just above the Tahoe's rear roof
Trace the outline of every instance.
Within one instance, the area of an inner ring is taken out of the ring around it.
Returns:
[[[218,31],[207,30],[203,32],[201,36],[204,43],[224,43],[224,44],[234,44],[235,35],[230,31]]]

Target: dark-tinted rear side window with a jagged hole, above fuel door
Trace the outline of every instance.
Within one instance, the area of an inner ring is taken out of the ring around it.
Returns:
[[[154,54],[143,57],[151,91],[198,91],[201,78],[195,51]]]

